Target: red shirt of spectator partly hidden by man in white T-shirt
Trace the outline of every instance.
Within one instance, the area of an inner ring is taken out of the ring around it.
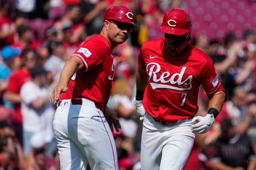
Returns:
[[[21,86],[30,80],[31,80],[30,71],[24,70],[21,68],[10,76],[7,91],[20,94]],[[15,103],[14,106],[17,112],[18,122],[21,123],[22,114],[20,109],[20,103]]]

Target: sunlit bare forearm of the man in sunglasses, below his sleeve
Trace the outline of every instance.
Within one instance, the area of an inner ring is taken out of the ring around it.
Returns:
[[[60,85],[67,86],[68,82],[72,78],[72,76],[75,74],[77,70],[81,70],[84,68],[84,63],[82,60],[77,57],[73,56],[69,58],[69,60],[65,63],[61,73],[60,73]]]

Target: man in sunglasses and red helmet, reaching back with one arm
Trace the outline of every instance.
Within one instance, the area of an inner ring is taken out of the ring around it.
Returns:
[[[92,170],[118,169],[111,130],[121,127],[106,105],[114,77],[112,51],[137,28],[133,21],[129,8],[109,8],[100,34],[86,39],[61,71],[51,94],[54,104],[60,96],[53,128],[61,169],[85,169],[88,161]]]

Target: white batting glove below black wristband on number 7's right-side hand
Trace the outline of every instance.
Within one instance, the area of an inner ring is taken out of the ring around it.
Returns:
[[[195,134],[203,134],[211,129],[212,124],[215,122],[214,116],[207,114],[206,116],[196,116],[192,119],[191,123],[196,123],[191,126],[191,130]]]

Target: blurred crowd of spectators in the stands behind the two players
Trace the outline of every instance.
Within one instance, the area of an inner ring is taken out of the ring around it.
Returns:
[[[142,123],[132,107],[141,45],[154,38],[164,13],[191,14],[190,43],[207,53],[228,95],[212,129],[196,140],[184,169],[236,170],[255,166],[255,0],[1,0],[0,169],[60,169],[49,96],[65,61],[87,37],[100,33],[106,10],[125,5],[135,13],[130,38],[113,52],[115,79],[108,102],[122,129],[113,132],[120,170],[140,170]],[[171,96],[170,96],[171,97]],[[200,89],[197,115],[208,101]],[[172,154],[172,153],[170,153]],[[87,169],[90,169],[89,165]]]

